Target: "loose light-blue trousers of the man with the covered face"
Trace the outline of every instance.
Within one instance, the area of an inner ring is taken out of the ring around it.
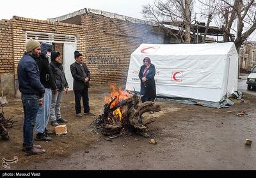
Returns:
[[[42,98],[43,104],[39,106],[38,113],[36,114],[36,132],[44,133],[45,128],[49,122],[50,107],[52,101],[51,89],[45,88],[44,98]]]

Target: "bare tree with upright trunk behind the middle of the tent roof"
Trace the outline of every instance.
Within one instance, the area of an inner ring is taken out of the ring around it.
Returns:
[[[157,22],[159,25],[163,25],[163,21],[180,23],[179,32],[172,34],[176,38],[180,37],[182,43],[190,43],[192,10],[192,0],[154,0],[154,4],[143,6],[142,13],[145,19]]]

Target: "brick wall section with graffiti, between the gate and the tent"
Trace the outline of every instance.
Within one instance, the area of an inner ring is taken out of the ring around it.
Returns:
[[[141,43],[164,41],[163,32],[158,27],[93,13],[82,15],[82,26],[86,34],[84,58],[92,81],[97,83],[126,81],[132,52]]]

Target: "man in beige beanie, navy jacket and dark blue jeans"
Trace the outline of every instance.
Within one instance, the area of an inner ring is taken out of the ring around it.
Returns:
[[[45,93],[44,85],[39,79],[36,60],[41,54],[40,43],[30,38],[26,43],[26,52],[18,64],[18,80],[21,100],[24,109],[23,147],[26,156],[45,152],[40,145],[33,144],[33,130],[38,112],[39,98]]]

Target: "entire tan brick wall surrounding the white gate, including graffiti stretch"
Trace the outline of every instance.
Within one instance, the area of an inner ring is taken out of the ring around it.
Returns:
[[[83,54],[92,73],[92,83],[124,82],[131,53],[141,43],[164,42],[164,32],[147,24],[93,13],[81,15],[81,20],[82,26],[16,16],[12,20],[0,21],[3,29],[0,35],[1,72],[13,73],[16,91],[17,65],[26,50],[27,31],[75,35],[77,50]],[[55,50],[61,52],[63,60],[63,43],[56,42],[54,45]]]

